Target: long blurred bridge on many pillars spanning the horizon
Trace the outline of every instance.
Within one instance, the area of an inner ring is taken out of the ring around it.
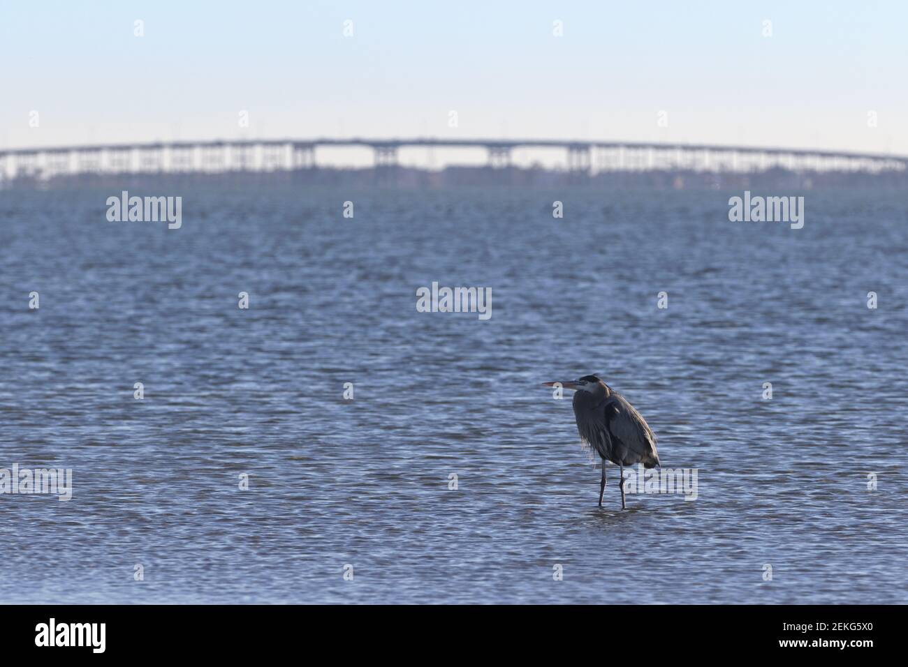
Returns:
[[[108,143],[0,149],[0,181],[47,179],[84,173],[276,172],[317,169],[320,148],[359,147],[373,152],[377,171],[398,166],[400,149],[482,149],[493,169],[514,166],[518,149],[559,151],[575,174],[637,171],[904,172],[908,157],[755,146],[559,139],[237,139]]]

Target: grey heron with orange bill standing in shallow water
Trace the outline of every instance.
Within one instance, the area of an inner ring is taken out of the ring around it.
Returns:
[[[606,461],[621,468],[621,509],[625,509],[624,466],[642,463],[651,468],[659,465],[656,434],[625,397],[595,375],[577,380],[545,382],[546,387],[560,385],[574,394],[574,417],[580,439],[602,458],[602,481],[599,484],[599,506],[606,490]]]

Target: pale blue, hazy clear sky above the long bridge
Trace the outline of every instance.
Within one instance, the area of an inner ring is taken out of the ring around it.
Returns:
[[[908,155],[905,25],[908,3],[864,0],[0,0],[0,146],[439,136]]]

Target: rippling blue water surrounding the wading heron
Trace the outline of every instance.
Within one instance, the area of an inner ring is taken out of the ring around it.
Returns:
[[[200,190],[169,231],[111,194],[0,193],[0,466],[74,471],[0,495],[0,602],[905,602],[908,196],[793,231],[718,191]],[[417,312],[433,280],[491,319]],[[609,466],[597,509],[538,384],[590,372],[696,501],[621,512]]]

